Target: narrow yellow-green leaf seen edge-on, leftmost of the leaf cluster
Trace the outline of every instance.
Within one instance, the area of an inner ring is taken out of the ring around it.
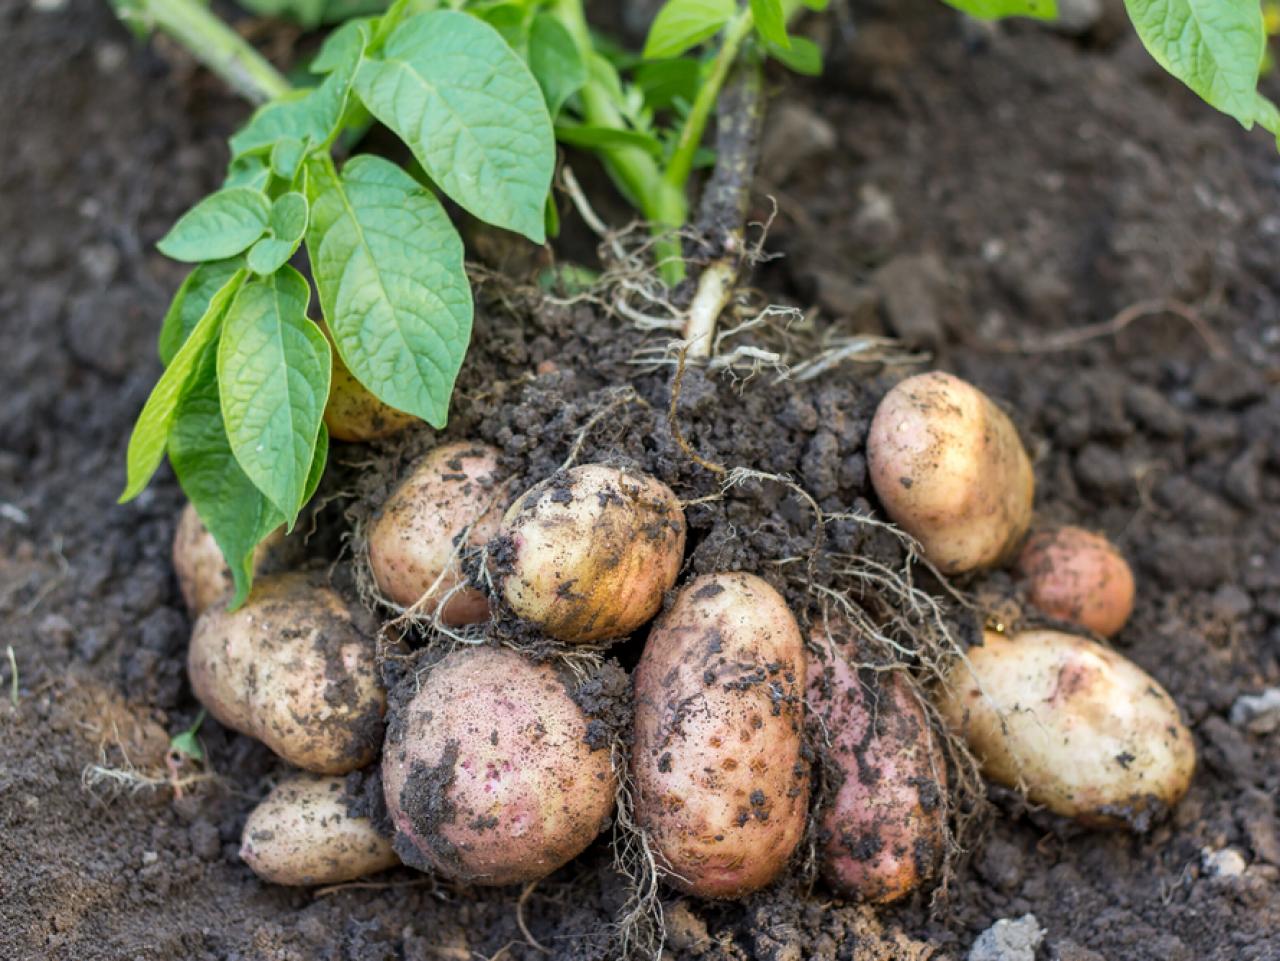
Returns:
[[[169,441],[169,429],[173,426],[174,411],[201,354],[214,343],[223,324],[223,316],[229,303],[236,298],[244,283],[244,271],[237,270],[223,288],[209,301],[205,315],[192,329],[191,335],[178,348],[160,380],[151,389],[151,395],[133,425],[127,454],[128,480],[120,503],[132,500],[147,486],[151,475],[156,472]]]

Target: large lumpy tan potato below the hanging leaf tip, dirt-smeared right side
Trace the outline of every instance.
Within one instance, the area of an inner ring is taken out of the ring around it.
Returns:
[[[298,768],[346,774],[378,756],[387,695],[374,639],[306,575],[264,577],[238,610],[206,610],[187,671],[210,714]]]

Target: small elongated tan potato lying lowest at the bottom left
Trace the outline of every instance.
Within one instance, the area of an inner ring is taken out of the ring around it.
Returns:
[[[337,884],[394,868],[392,842],[352,818],[343,778],[291,774],[248,815],[241,860],[273,884]]]

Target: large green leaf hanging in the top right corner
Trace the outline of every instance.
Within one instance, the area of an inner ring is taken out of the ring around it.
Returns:
[[[1258,0],[1125,0],[1143,46],[1210,106],[1249,129],[1266,49]]]

